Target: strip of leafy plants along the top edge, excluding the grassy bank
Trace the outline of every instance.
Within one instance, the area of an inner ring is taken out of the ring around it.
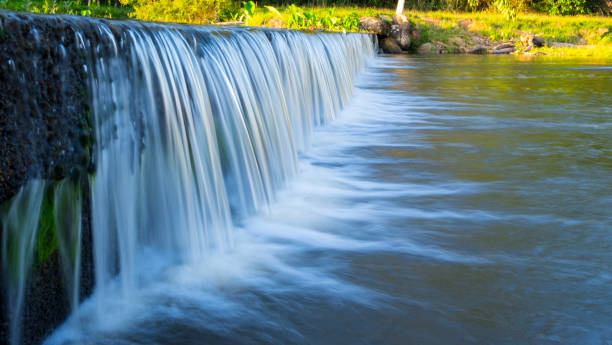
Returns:
[[[0,8],[13,11],[194,24],[240,19],[259,23],[260,20],[252,19],[276,15],[286,23],[291,22],[290,27],[320,26],[334,30],[353,27],[349,23],[351,18],[342,20],[350,13],[338,13],[336,7],[354,9],[354,13],[363,16],[364,11],[381,12],[380,9],[392,9],[395,5],[396,0],[266,0],[260,3],[237,0],[97,0],[95,3],[91,0],[0,0]],[[522,13],[536,12],[549,15],[612,14],[607,0],[406,0],[405,8],[413,11],[498,13],[509,20]],[[324,13],[326,11],[331,13]],[[269,16],[265,16],[266,13]],[[287,14],[290,18],[285,18]],[[313,14],[316,18],[312,17]],[[319,22],[320,25],[314,25]]]

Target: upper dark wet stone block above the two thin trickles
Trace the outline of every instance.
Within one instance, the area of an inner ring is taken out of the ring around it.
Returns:
[[[29,178],[87,169],[92,135],[84,66],[66,22],[0,12],[0,203]]]

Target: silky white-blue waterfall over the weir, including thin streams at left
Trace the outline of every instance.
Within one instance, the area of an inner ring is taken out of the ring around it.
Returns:
[[[313,130],[348,102],[354,77],[375,54],[371,37],[358,34],[63,20],[89,75],[100,317],[109,299],[135,294],[156,269],[152,257],[171,265],[231,252],[234,224],[265,209],[297,173]],[[9,234],[21,229],[20,277],[31,265],[38,224],[37,217],[20,224],[20,215],[40,213],[42,185],[24,188],[4,217]],[[54,193],[74,305],[81,257],[75,190],[60,184]],[[3,253],[12,253],[4,242]],[[21,292],[11,307],[19,310],[25,281],[14,284],[11,291]]]

